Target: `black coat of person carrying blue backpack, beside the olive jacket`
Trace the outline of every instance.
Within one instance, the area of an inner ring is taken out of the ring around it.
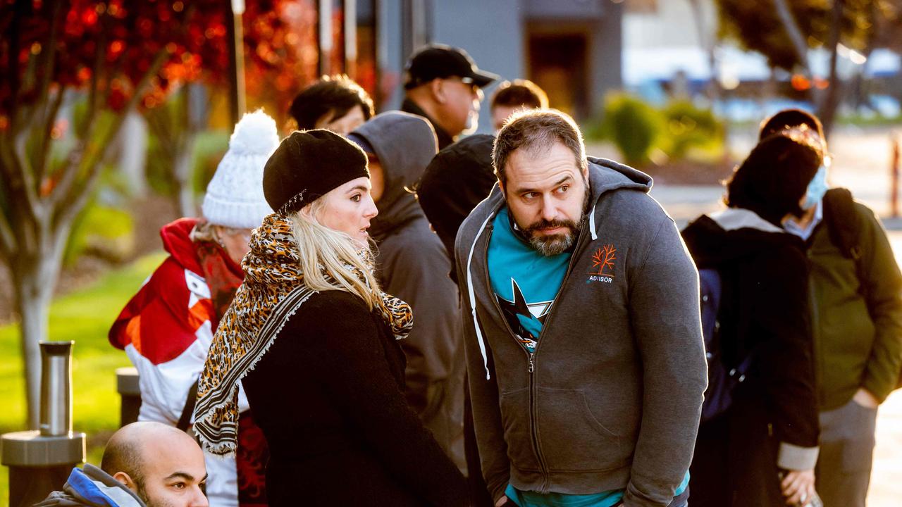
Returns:
[[[700,217],[683,232],[699,269],[721,274],[718,321],[729,369],[754,355],[722,416],[699,428],[693,505],[782,505],[780,443],[816,447],[817,400],[804,244],[783,232],[724,230]]]

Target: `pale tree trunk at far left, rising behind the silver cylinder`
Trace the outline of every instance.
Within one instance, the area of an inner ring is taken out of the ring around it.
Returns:
[[[60,235],[56,236],[59,237]],[[20,343],[25,364],[27,424],[30,429],[38,428],[41,408],[41,347],[38,343],[49,337],[50,304],[62,263],[63,248],[56,238],[41,230],[36,252],[23,252],[10,262],[16,296],[15,308],[21,319]]]

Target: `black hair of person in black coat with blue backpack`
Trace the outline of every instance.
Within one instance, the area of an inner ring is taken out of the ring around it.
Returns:
[[[774,225],[787,213],[801,216],[799,199],[823,161],[824,152],[810,139],[770,135],[733,171],[724,202],[750,209]]]

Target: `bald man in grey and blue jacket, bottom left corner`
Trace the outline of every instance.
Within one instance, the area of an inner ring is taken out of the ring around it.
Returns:
[[[99,468],[73,468],[34,507],[207,507],[206,480],[204,453],[187,433],[133,422],[110,437]]]

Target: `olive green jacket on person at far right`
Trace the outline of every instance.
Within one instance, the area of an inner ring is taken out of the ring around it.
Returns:
[[[842,406],[860,387],[884,401],[902,364],[902,274],[874,212],[858,202],[854,208],[861,280],[831,241],[828,207],[807,242],[821,410]]]

